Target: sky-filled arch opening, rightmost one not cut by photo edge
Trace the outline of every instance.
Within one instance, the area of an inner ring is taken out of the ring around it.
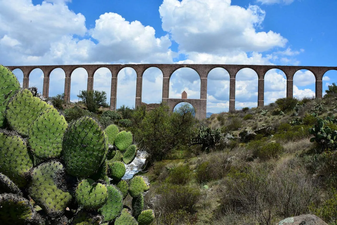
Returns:
[[[293,97],[298,99],[315,98],[315,75],[309,70],[299,70],[293,77]]]

